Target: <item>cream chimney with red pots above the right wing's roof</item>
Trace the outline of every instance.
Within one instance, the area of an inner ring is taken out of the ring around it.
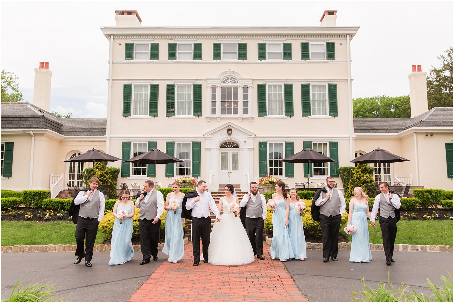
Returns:
[[[415,65],[412,65],[412,72],[408,75],[412,118],[428,111],[426,75],[426,72],[421,71],[421,65],[417,66],[417,71],[415,70]]]

